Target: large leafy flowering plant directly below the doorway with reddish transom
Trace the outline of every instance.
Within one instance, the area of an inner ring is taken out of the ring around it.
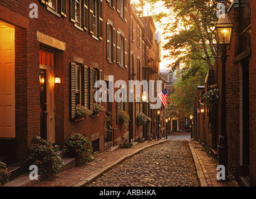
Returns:
[[[35,136],[29,147],[27,162],[37,165],[40,174],[56,176],[59,169],[64,166],[58,150],[59,146],[53,146],[51,142],[47,142],[40,136]]]

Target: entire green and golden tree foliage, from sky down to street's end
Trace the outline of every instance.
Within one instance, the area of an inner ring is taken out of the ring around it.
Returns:
[[[169,96],[166,111],[169,116],[188,117],[194,106],[197,86],[204,85],[207,70],[212,70],[216,58],[215,23],[220,0],[149,0],[152,7],[162,9],[154,15],[164,30],[165,58],[174,60],[168,67],[181,68],[174,83],[175,93]],[[165,8],[165,9],[164,9]]]

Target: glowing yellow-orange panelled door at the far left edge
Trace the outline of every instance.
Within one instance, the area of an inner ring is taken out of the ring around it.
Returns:
[[[15,137],[14,33],[0,21],[0,137]]]

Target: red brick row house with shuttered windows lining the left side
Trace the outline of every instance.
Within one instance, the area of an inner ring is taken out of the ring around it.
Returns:
[[[102,101],[104,91],[98,102],[94,98],[102,88],[95,88],[97,80],[106,82],[107,99],[129,85],[131,49],[133,70],[140,74],[135,78],[143,78],[144,25],[132,13],[127,0],[0,2],[0,160],[26,160],[36,135],[62,149],[66,137],[79,132],[94,150],[102,151],[109,142],[119,146],[142,134],[142,126],[131,123],[137,128],[134,134],[120,122],[121,110],[130,113],[127,101]],[[132,19],[139,25],[139,43],[137,37],[131,39]],[[110,126],[105,113],[94,111],[96,103],[114,115]],[[80,118],[77,104],[94,114]]]

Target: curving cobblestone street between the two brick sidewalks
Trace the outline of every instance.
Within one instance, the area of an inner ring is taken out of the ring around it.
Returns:
[[[194,161],[185,140],[142,150],[87,186],[197,187]]]

